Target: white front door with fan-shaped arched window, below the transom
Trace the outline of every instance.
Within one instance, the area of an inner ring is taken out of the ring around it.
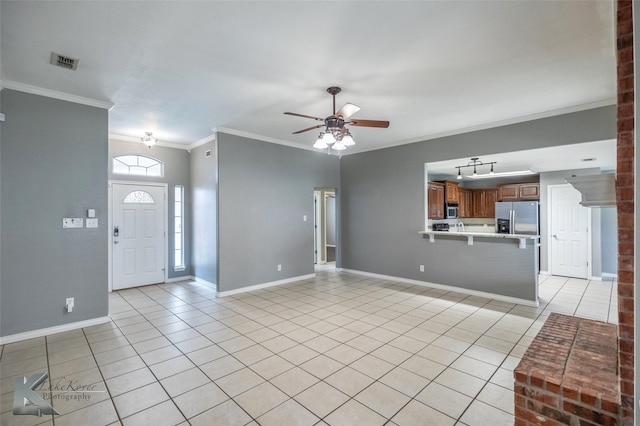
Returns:
[[[112,186],[113,289],[165,280],[163,186]]]

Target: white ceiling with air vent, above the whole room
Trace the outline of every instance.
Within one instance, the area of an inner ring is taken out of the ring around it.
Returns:
[[[615,103],[613,1],[0,2],[1,70],[111,102],[111,134],[211,129],[310,147],[326,88],[362,109],[350,152]],[[51,52],[80,59],[72,72]]]

